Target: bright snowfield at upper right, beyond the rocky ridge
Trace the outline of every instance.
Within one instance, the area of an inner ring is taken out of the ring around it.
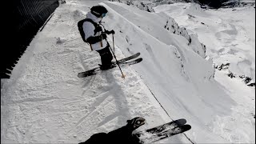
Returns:
[[[155,7],[180,26],[198,34],[216,66],[230,63],[229,70],[255,82],[255,8],[202,10],[197,4],[177,3]]]

